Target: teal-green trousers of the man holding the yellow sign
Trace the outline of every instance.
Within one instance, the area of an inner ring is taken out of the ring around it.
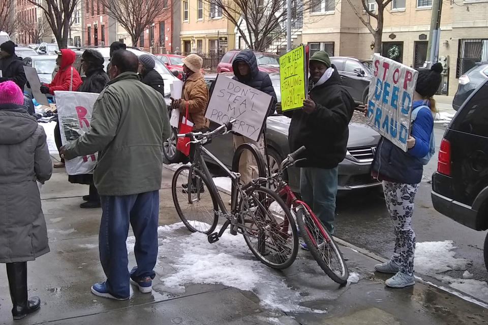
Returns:
[[[300,194],[317,218],[334,233],[338,168],[300,168]]]

